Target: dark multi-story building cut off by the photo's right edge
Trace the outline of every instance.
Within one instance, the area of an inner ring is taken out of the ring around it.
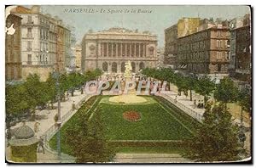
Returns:
[[[230,76],[239,87],[245,87],[252,79],[251,15],[231,20],[230,29]]]

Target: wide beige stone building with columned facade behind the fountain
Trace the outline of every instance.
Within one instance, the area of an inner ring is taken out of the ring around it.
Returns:
[[[89,31],[82,41],[82,71],[99,68],[106,73],[121,74],[125,62],[131,61],[132,72],[157,64],[157,36],[148,31],[111,28]]]

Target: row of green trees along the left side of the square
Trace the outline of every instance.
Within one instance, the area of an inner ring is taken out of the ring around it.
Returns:
[[[79,73],[61,74],[58,76],[60,83],[60,93],[63,96],[67,90],[74,91],[85,81],[96,79],[101,76],[101,70],[90,71],[86,76]],[[47,81],[40,81],[36,74],[29,75],[24,83],[18,85],[6,85],[6,114],[9,116],[20,116],[31,110],[34,112],[37,106],[44,107],[49,102],[55,102],[57,98],[57,86],[53,73],[49,74]]]

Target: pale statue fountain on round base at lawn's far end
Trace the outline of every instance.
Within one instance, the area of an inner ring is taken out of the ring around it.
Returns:
[[[125,63],[125,81],[121,82],[121,93],[118,96],[113,96],[109,98],[109,102],[113,103],[119,103],[119,104],[137,104],[137,103],[143,103],[147,102],[146,98],[139,97],[136,95],[136,90],[132,89],[129,90],[127,93],[124,93],[125,90],[125,84],[127,84],[127,81],[131,81],[131,62],[128,60],[127,63]]]

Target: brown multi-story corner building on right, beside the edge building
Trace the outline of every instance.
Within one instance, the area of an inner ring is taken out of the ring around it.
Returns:
[[[230,29],[214,26],[178,38],[177,69],[226,76],[230,62]]]

